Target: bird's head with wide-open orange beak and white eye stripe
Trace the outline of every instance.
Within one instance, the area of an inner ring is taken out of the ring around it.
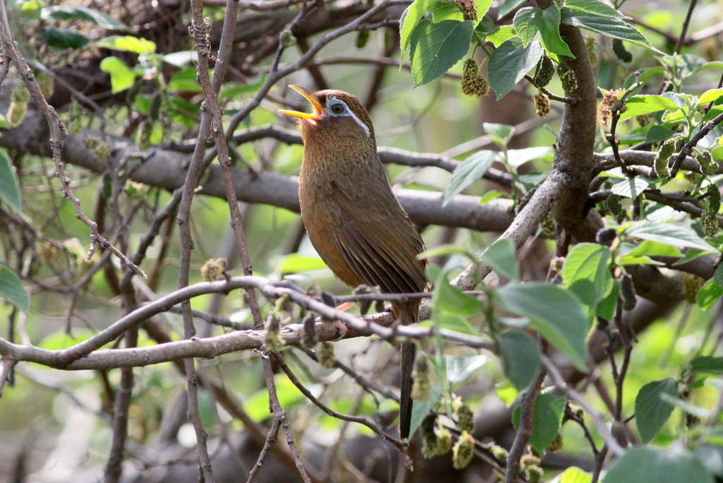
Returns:
[[[372,119],[359,99],[343,90],[320,90],[315,93],[298,85],[292,89],[303,95],[312,104],[311,114],[299,111],[280,110],[281,114],[299,119],[299,129],[304,142],[319,136],[326,140],[343,137],[356,138],[358,142],[376,145]]]

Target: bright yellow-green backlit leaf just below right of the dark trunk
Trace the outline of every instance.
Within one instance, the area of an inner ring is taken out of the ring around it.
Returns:
[[[570,250],[562,268],[565,286],[578,296],[583,304],[596,307],[612,289],[608,247],[596,243],[578,243]]]

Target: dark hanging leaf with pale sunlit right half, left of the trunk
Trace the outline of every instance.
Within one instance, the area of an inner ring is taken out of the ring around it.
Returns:
[[[497,47],[489,57],[487,67],[489,85],[497,93],[497,99],[505,97],[537,65],[543,53],[539,41],[533,40],[525,47],[519,37],[510,38]]]

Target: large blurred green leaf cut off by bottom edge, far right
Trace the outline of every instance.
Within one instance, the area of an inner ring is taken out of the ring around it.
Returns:
[[[656,449],[633,446],[610,466],[604,483],[714,483],[713,476],[678,445]]]

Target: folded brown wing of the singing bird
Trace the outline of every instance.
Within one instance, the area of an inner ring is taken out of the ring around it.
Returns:
[[[392,197],[392,205],[360,206],[336,192],[340,210],[335,230],[337,247],[354,273],[367,285],[388,294],[423,291],[426,262],[416,255],[424,242]],[[376,208],[376,209],[375,209]]]

